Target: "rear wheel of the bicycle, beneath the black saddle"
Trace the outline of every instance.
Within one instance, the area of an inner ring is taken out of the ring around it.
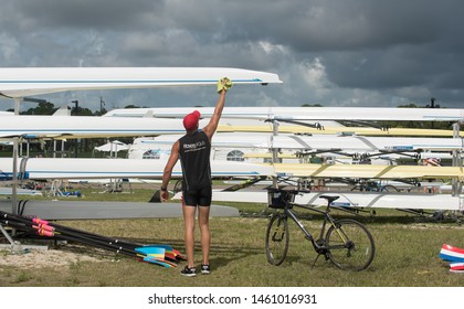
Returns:
[[[330,226],[326,235],[327,257],[339,268],[359,271],[373,259],[373,237],[358,221],[344,219]]]

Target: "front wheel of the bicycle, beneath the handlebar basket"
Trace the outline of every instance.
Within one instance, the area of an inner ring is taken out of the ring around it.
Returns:
[[[266,255],[272,265],[281,265],[288,251],[288,223],[285,214],[274,214],[267,225]]]

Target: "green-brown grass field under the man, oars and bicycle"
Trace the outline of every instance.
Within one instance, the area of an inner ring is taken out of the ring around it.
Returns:
[[[82,189],[82,200],[147,201],[152,190],[131,193],[98,193]],[[23,268],[0,266],[3,287],[462,287],[463,277],[449,271],[439,258],[442,244],[464,247],[464,227],[455,221],[434,222],[398,211],[378,211],[376,216],[357,217],[367,224],[377,246],[372,265],[363,271],[351,273],[335,268],[319,258],[294,223],[289,222],[291,243],[287,258],[281,266],[267,263],[264,249],[265,231],[271,214],[262,204],[233,204],[244,214],[240,217],[212,217],[211,275],[186,278],[177,268],[164,268],[139,263],[93,247],[68,244],[63,253],[73,252],[94,257],[92,262],[76,260],[67,266]],[[154,204],[156,207],[156,204]],[[354,216],[342,213],[339,216]],[[181,219],[105,220],[60,222],[75,228],[106,236],[125,237],[144,244],[171,244],[181,252],[183,227]],[[320,219],[305,221],[316,232]],[[197,233],[197,239],[199,239]],[[200,263],[200,246],[196,259]],[[0,259],[10,253],[0,253]],[[18,259],[28,254],[18,255]]]

